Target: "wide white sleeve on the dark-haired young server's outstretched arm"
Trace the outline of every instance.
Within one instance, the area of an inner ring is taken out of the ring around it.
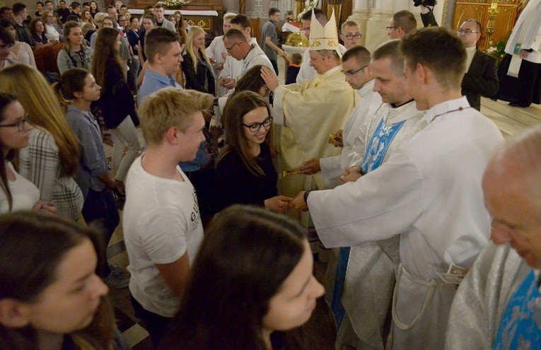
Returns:
[[[335,189],[311,192],[308,209],[325,247],[349,247],[391,238],[422,212],[422,178],[399,151],[387,163]]]

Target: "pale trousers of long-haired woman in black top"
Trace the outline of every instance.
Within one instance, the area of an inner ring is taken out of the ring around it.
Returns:
[[[115,180],[124,181],[129,167],[134,163],[141,150],[141,145],[135,132],[134,122],[132,122],[129,115],[115,129],[110,129],[110,132],[112,138],[112,173],[115,174]],[[124,154],[125,145],[128,146],[126,154]]]

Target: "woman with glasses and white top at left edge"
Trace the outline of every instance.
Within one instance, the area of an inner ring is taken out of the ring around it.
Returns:
[[[52,204],[38,202],[40,191],[13,168],[11,161],[18,149],[28,146],[28,115],[12,95],[0,93],[0,213],[15,210],[56,212]]]

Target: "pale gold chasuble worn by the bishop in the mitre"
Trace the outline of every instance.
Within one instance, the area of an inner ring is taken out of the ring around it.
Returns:
[[[279,136],[280,172],[294,170],[310,158],[340,154],[342,148],[327,143],[329,134],[343,129],[360,96],[346,83],[342,66],[307,79],[301,84],[279,86],[274,91],[273,117],[281,125]],[[296,197],[307,189],[324,189],[321,173],[283,177],[280,193]],[[290,211],[299,218],[296,211]],[[307,221],[303,220],[306,226]]]

